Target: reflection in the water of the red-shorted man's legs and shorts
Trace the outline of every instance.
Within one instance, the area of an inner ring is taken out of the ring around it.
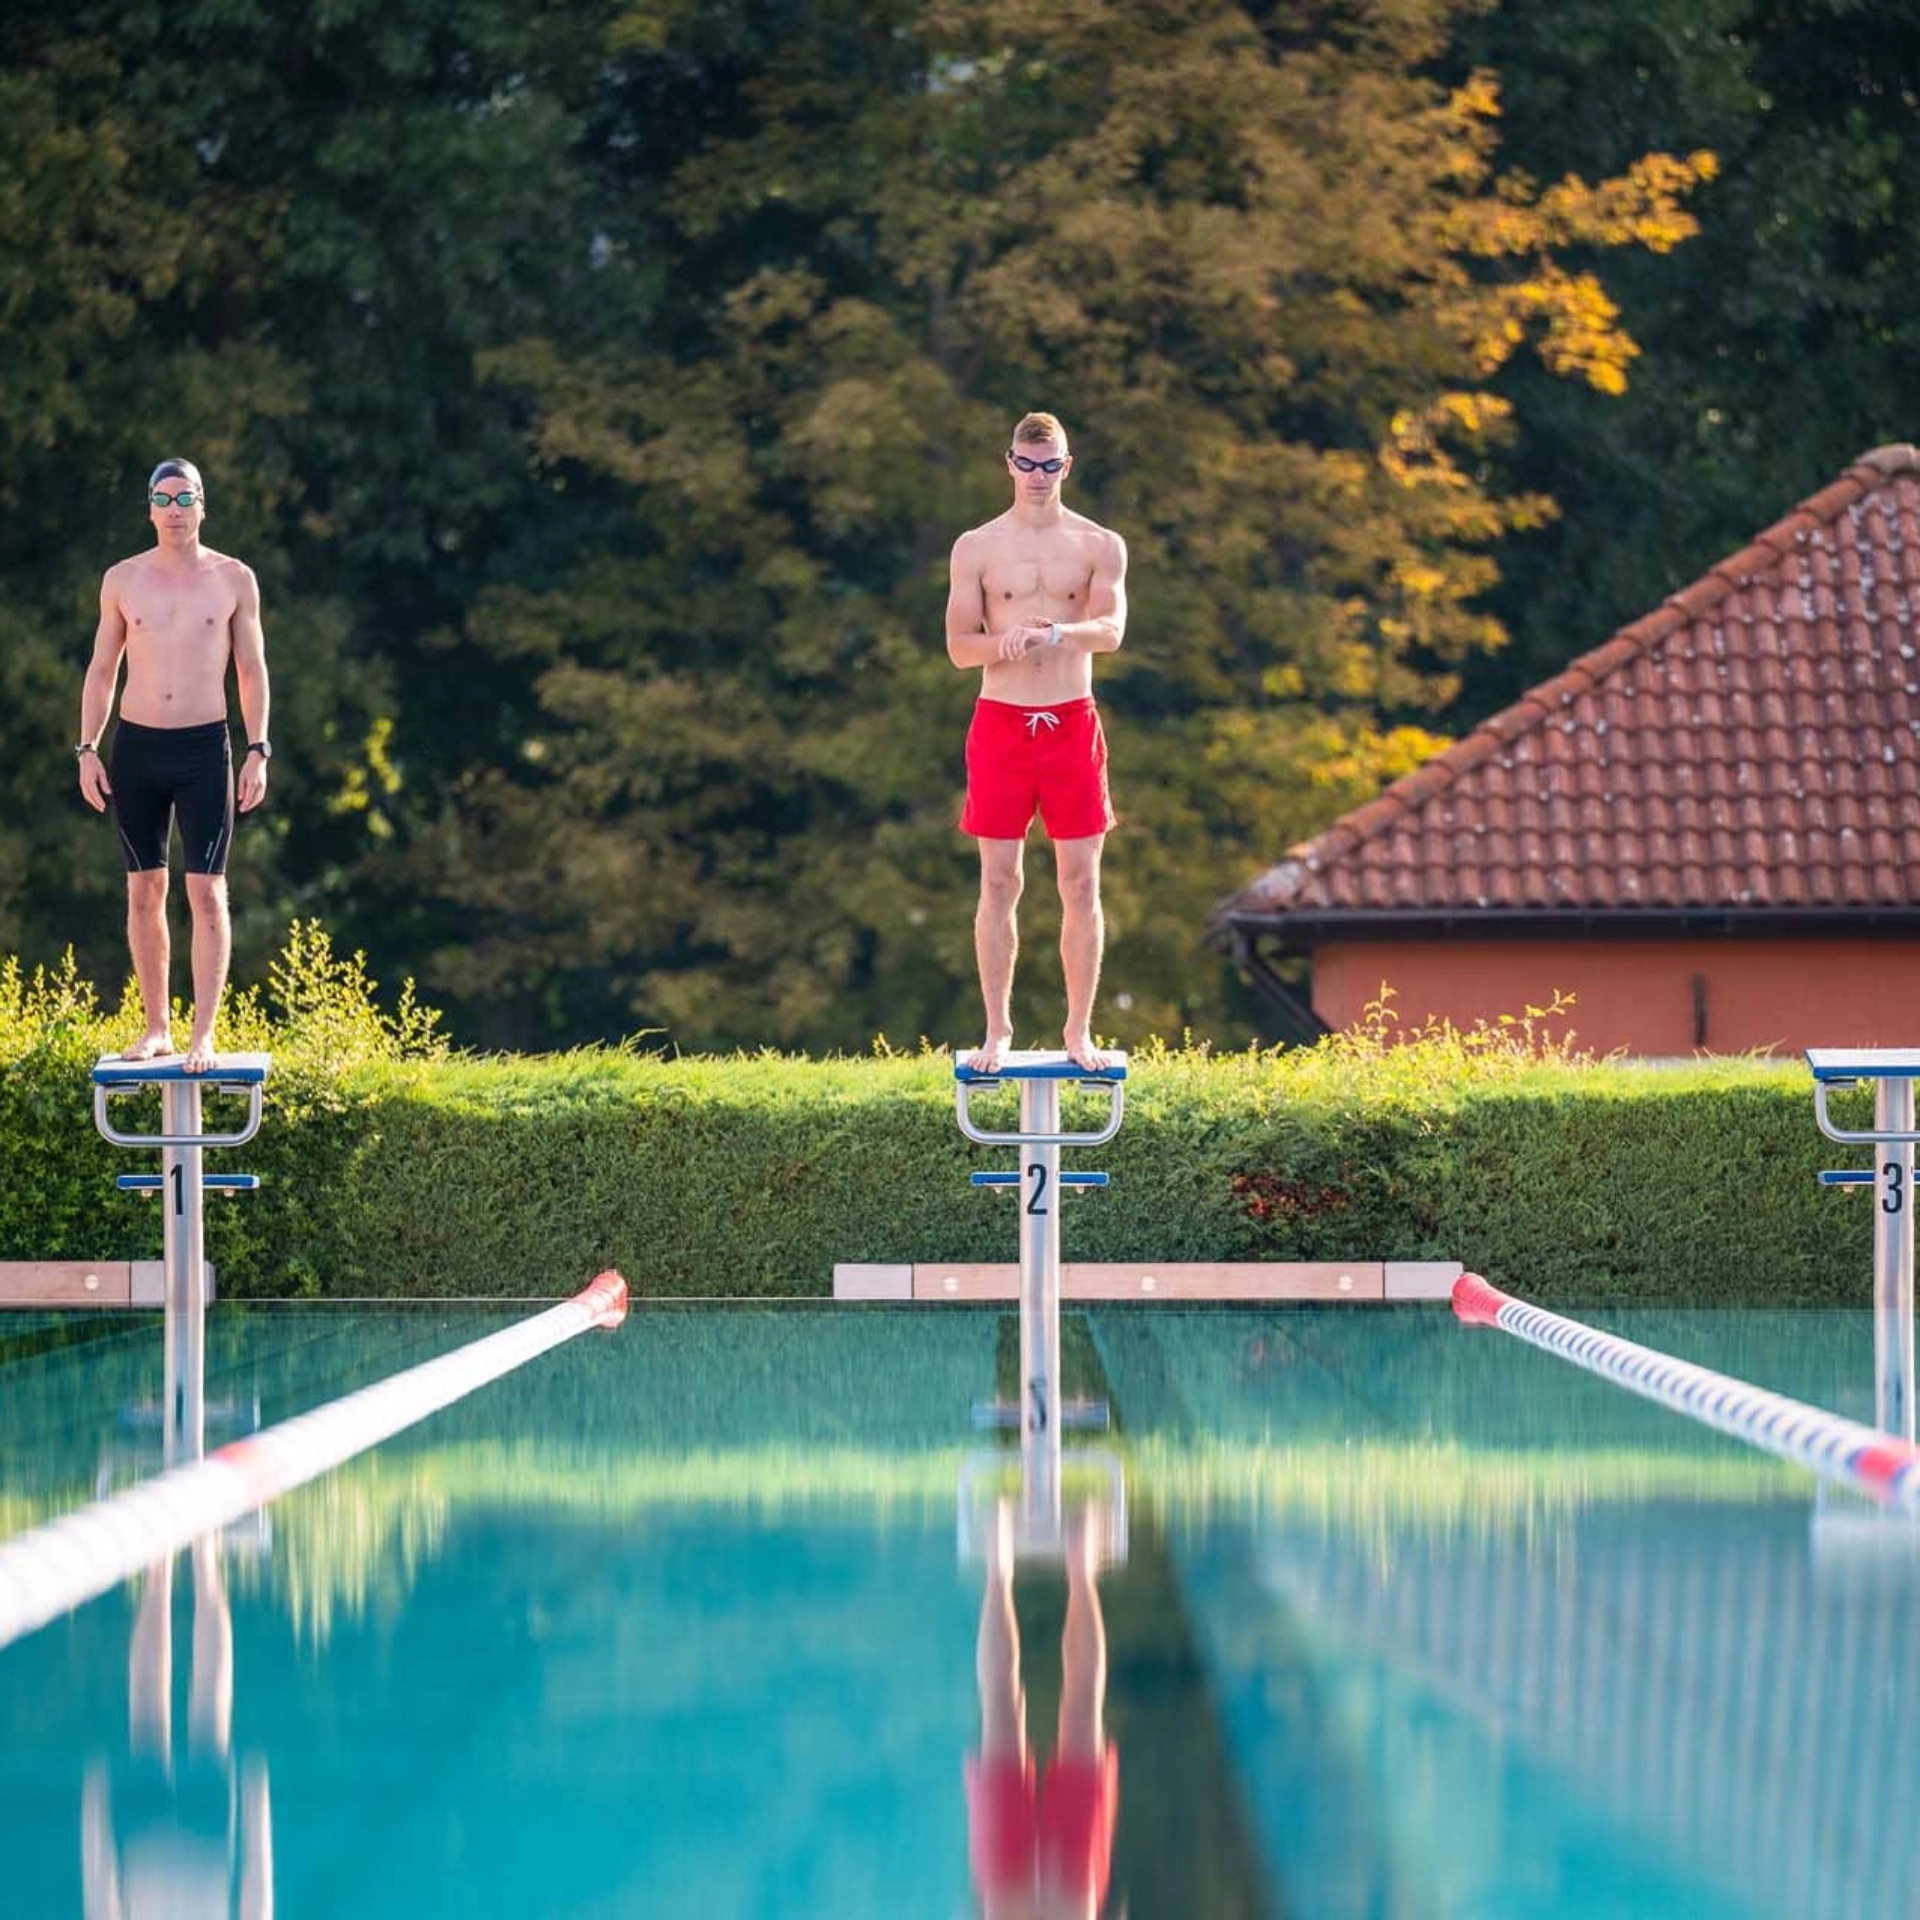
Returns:
[[[1106,1624],[1091,1507],[1068,1526],[1068,1620],[1060,1636],[1060,1730],[1041,1774],[1027,1751],[1027,1699],[1014,1622],[1014,1513],[995,1521],[979,1607],[979,1753],[966,1801],[973,1885],[987,1920],[1094,1920],[1106,1899],[1119,1807],[1119,1753],[1102,1724]]]

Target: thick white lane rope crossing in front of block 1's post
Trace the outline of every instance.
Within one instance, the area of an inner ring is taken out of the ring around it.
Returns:
[[[626,1319],[611,1267],[572,1300],[0,1542],[0,1647],[515,1367]]]

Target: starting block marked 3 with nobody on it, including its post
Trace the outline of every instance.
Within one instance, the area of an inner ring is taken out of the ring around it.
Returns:
[[[1874,1425],[1914,1438],[1914,1046],[1811,1046],[1812,1112],[1820,1131],[1843,1146],[1872,1146],[1872,1169],[1820,1175],[1822,1187],[1872,1187],[1874,1210]],[[1836,1127],[1828,1096],[1836,1087],[1872,1087],[1874,1123]]]

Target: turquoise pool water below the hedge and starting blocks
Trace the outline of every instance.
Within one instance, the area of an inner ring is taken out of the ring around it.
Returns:
[[[209,1444],[515,1317],[217,1309]],[[1870,1411],[1864,1313],[1603,1323]],[[1129,1509],[1104,1912],[1912,1910],[1908,1534],[1444,1309],[1064,1331]],[[958,1488],[1012,1356],[643,1308],[0,1651],[0,1907],[977,1912]],[[0,1321],[0,1532],[157,1467],[159,1369],[157,1317]],[[1021,1567],[1043,1759],[1064,1617]]]

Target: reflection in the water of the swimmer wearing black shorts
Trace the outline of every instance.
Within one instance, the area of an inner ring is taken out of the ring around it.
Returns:
[[[129,1761],[96,1759],[81,1799],[88,1920],[140,1914],[273,1914],[267,1766],[234,1770],[234,1630],[219,1536],[188,1549],[194,1645],[186,1755],[173,1751],[173,1559],[148,1571],[127,1655]]]

